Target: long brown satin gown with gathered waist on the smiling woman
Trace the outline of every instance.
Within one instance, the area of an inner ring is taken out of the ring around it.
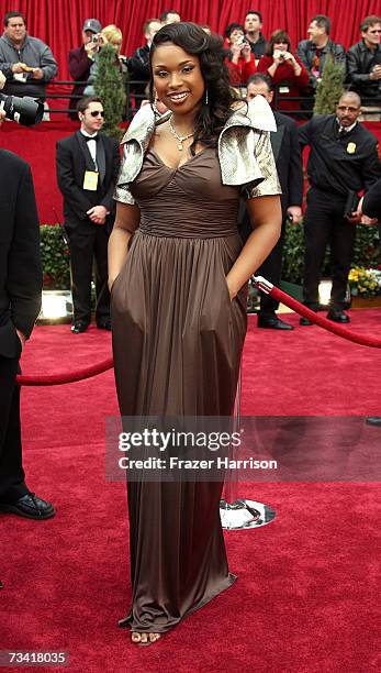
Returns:
[[[246,333],[245,289],[225,276],[242,249],[237,187],[216,151],[180,168],[154,150],[131,186],[141,212],[112,288],[122,416],[228,416]],[[231,586],[221,483],[128,483],[132,605],[123,626],[165,632]]]

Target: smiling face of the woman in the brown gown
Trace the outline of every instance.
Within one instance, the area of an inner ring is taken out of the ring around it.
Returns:
[[[166,42],[156,47],[152,66],[159,100],[176,114],[197,112],[205,89],[199,56]]]

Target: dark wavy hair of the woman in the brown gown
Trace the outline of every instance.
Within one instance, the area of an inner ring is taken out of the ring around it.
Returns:
[[[194,136],[191,153],[194,154],[198,142],[215,147],[217,136],[232,114],[232,104],[240,100],[229,85],[228,71],[224,64],[223,41],[220,35],[208,35],[195,23],[170,23],[160,29],[154,36],[149,52],[149,99],[154,102],[153,56],[156,48],[164,43],[172,42],[187,54],[200,58],[200,68],[208,91],[208,104],[203,97],[200,110],[194,120]]]

